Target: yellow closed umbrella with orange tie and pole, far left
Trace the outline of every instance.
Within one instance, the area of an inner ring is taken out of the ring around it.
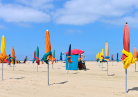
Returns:
[[[1,54],[0,54],[0,62],[2,63],[2,77],[1,77],[2,80],[3,80],[3,62],[6,58],[7,55],[5,53],[5,37],[3,35],[1,40]]]

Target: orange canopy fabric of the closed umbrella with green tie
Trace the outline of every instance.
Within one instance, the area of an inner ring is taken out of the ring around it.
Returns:
[[[46,31],[46,36],[45,36],[45,48],[46,48],[46,53],[51,52],[50,35],[48,30]],[[48,55],[47,59],[52,60],[52,54]]]

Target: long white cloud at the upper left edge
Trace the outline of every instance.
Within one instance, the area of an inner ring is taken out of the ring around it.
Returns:
[[[49,22],[50,15],[46,12],[20,4],[0,3],[0,19],[6,22]]]

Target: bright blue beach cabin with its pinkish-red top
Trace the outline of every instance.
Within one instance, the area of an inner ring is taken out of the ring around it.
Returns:
[[[68,57],[68,52],[66,52],[66,70],[78,70],[78,59],[79,59],[79,54],[84,53],[84,51],[79,50],[79,49],[73,49],[71,50],[71,60],[73,61],[72,63],[69,63],[67,61]]]

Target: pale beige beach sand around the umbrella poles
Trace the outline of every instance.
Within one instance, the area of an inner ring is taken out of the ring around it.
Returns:
[[[65,64],[50,62],[50,86],[47,85],[47,65],[38,66],[4,64],[4,80],[0,79],[0,97],[138,97],[138,69],[128,68],[128,93],[125,93],[125,70],[121,62],[103,63],[103,71],[97,62],[86,62],[87,70],[67,71]],[[1,67],[0,64],[0,78]],[[137,65],[138,66],[138,65]]]

